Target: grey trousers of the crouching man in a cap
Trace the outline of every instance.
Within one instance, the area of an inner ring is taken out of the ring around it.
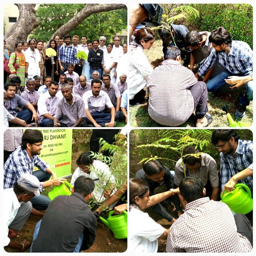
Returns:
[[[32,211],[32,203],[27,202],[27,203],[22,203],[20,205],[19,210],[17,211],[17,214],[12,220],[12,223],[9,225],[9,228],[14,229],[14,230],[22,230],[24,224],[26,223],[30,213]]]

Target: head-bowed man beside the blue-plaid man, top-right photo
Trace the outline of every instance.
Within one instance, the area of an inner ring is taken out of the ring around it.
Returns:
[[[211,33],[208,31],[198,32],[189,31],[185,37],[185,43],[191,50],[190,54],[190,69],[194,72],[194,65],[199,64],[206,57],[208,57],[213,50],[212,44],[209,42],[209,35]],[[199,68],[198,67],[198,68]],[[198,68],[196,70],[198,70]],[[225,68],[216,61],[213,67],[205,74],[203,82],[207,82],[209,78],[213,78],[217,74],[224,71]],[[196,73],[196,71],[194,72]]]

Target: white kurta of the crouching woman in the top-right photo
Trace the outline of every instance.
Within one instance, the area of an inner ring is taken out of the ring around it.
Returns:
[[[130,50],[128,71],[130,84],[129,99],[133,99],[135,94],[146,87],[146,80],[144,77],[148,77],[153,71],[153,68],[151,67],[141,46]]]

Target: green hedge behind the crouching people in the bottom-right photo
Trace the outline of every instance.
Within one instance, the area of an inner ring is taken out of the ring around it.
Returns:
[[[182,131],[185,131],[185,129],[180,129]],[[195,129],[194,129],[195,130]],[[208,129],[207,129],[208,130]],[[169,134],[173,137],[178,139],[179,135],[177,135],[177,129],[136,129],[132,130],[130,132],[130,178],[134,177],[135,173],[142,168],[142,164],[138,164],[143,158],[146,157],[163,157],[163,158],[169,158],[173,161],[169,160],[163,160],[161,159],[160,161],[168,166],[169,169],[174,170],[176,161],[180,158],[180,155],[178,152],[175,150],[171,149],[165,149],[164,147],[143,147],[143,148],[136,148],[138,145],[141,144],[151,144],[154,143],[155,141],[164,138],[166,131],[169,131]],[[209,131],[213,131],[210,130]],[[237,133],[240,135],[240,139],[242,140],[253,140],[253,133],[251,130],[248,129],[239,129],[237,130]],[[197,136],[198,134],[195,133],[194,137]],[[211,140],[211,138],[206,137],[202,135],[202,139],[208,139]],[[193,135],[191,136],[193,138]],[[163,145],[170,145],[170,146],[175,146],[172,141],[168,140],[163,140],[161,142]],[[202,149],[199,149],[201,152],[205,152],[211,157],[213,157],[216,160],[218,169],[220,169],[220,160],[219,160],[219,152],[216,149],[216,147],[211,144],[211,141],[209,144],[202,145]]]

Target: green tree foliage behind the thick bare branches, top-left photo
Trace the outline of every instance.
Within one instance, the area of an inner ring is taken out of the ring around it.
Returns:
[[[54,32],[67,23],[73,16],[85,7],[84,4],[42,4],[36,10],[39,25],[34,28],[30,38],[47,42]],[[94,13],[87,17],[76,29],[70,31],[71,36],[87,36],[91,41],[100,36],[105,36],[107,42],[112,42],[112,37],[127,28],[127,10],[118,9],[109,12]],[[79,42],[81,43],[81,42]]]

